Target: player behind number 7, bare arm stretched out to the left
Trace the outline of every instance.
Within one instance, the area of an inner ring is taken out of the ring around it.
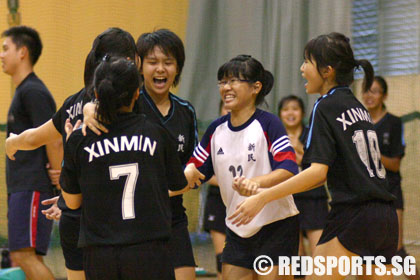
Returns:
[[[120,28],[109,28],[99,34],[89,52],[84,70],[85,87],[78,93],[68,97],[51,120],[44,125],[29,129],[6,140],[6,154],[13,157],[17,150],[31,150],[45,145],[50,141],[66,140],[64,129],[66,120],[75,125],[83,119],[83,105],[93,96],[93,74],[95,68],[106,54],[128,57],[136,61],[136,45],[130,33]],[[60,219],[60,242],[63,249],[67,278],[69,280],[85,279],[83,272],[83,251],[77,248],[80,229],[80,209],[69,209],[62,197],[58,200],[58,210],[55,205],[44,213],[49,218]],[[62,212],[61,212],[62,210]],[[61,217],[60,217],[61,215]]]

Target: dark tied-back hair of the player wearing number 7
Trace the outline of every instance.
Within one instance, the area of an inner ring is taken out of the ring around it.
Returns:
[[[95,71],[94,86],[99,102],[96,119],[112,123],[121,107],[130,106],[139,88],[137,67],[125,58],[103,61]]]

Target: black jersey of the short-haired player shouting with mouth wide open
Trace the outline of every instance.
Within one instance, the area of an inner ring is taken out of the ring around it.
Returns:
[[[150,95],[143,87],[133,111],[145,114],[149,120],[162,124],[174,139],[181,164],[187,164],[198,142],[197,119],[194,107],[172,93],[169,93],[171,108],[168,115],[162,116]],[[171,197],[174,221],[185,217],[182,195]]]

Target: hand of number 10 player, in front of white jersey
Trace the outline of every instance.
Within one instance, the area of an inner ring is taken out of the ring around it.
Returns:
[[[247,225],[264,206],[265,202],[261,199],[261,195],[253,195],[239,203],[235,213],[228,217],[228,220],[233,220],[232,224],[236,224],[236,226]]]

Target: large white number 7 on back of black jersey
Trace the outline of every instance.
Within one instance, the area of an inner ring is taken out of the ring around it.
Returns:
[[[123,220],[135,219],[134,192],[136,191],[136,183],[139,176],[139,165],[137,163],[129,163],[110,166],[109,176],[111,180],[118,180],[121,176],[127,176],[121,202],[122,218]]]

